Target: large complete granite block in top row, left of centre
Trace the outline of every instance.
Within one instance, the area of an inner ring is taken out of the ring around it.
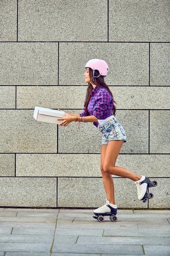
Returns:
[[[19,41],[108,41],[107,0],[24,0],[19,11]]]

